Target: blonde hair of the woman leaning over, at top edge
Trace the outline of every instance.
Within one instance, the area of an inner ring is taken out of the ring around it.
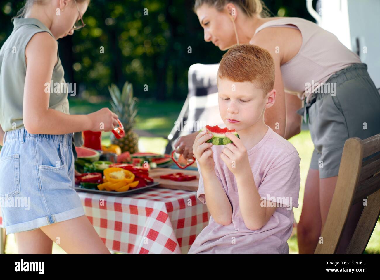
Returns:
[[[195,13],[203,4],[207,4],[218,11],[222,11],[228,3],[234,3],[250,18],[252,16],[267,18],[271,14],[262,0],[195,0],[193,11]]]

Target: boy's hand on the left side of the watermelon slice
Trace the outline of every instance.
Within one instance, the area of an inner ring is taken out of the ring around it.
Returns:
[[[205,143],[207,140],[212,138],[212,134],[208,133],[207,130],[201,131],[195,137],[193,144],[193,154],[198,160],[199,166],[202,170],[211,172],[214,171],[214,152],[212,152],[212,143]]]

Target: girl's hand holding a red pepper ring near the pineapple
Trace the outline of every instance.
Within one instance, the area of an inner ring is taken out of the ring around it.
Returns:
[[[91,131],[111,131],[117,125],[117,115],[108,108],[102,108],[87,115],[90,119]]]

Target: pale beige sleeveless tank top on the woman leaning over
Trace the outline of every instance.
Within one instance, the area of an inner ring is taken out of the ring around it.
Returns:
[[[296,56],[281,65],[281,75],[285,91],[299,93],[306,102],[319,86],[335,72],[350,64],[361,63],[357,54],[340,43],[336,35],[321,28],[314,22],[302,18],[280,18],[265,22],[256,32],[266,27],[293,27],[302,34],[302,45]],[[306,83],[311,86],[305,93]]]

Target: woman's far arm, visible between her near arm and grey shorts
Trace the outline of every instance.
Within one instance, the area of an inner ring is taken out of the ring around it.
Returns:
[[[302,107],[302,101],[294,94],[285,93],[285,104],[286,129],[284,138],[289,139],[301,132],[302,117],[296,111]]]

